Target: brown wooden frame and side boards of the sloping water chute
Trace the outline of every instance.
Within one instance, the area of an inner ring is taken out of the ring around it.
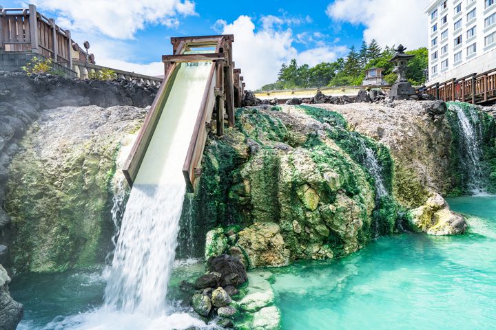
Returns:
[[[174,78],[180,63],[211,61],[211,71],[198,110],[194,131],[189,142],[183,165],[187,191],[194,192],[196,179],[201,175],[201,159],[207,135],[215,126],[216,134],[223,135],[224,117],[227,113],[229,126],[234,126],[234,65],[232,62],[232,43],[234,36],[187,36],[171,38],[174,55],[162,56],[165,76],[151,109],[138,133],[130,156],[123,167],[127,182],[132,186],[143,162],[148,145],[152,140],[158,120],[170,95]],[[215,122],[212,122],[215,118]]]

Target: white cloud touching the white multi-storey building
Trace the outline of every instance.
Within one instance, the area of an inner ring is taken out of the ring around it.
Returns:
[[[380,45],[399,45],[410,50],[427,44],[429,0],[336,0],[327,7],[327,15],[338,21],[363,24],[364,40],[375,39]]]

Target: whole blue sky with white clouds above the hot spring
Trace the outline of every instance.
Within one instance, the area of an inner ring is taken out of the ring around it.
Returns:
[[[144,74],[162,73],[159,61],[172,52],[171,36],[233,33],[234,60],[251,88],[276,80],[280,65],[291,58],[309,65],[333,61],[372,38],[411,48],[427,42],[428,0],[32,2],[69,28],[76,42],[90,41],[97,64]],[[26,3],[2,0],[1,5]],[[402,14],[408,18],[399,19]]]

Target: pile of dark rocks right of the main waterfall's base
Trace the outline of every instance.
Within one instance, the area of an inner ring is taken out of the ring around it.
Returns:
[[[237,287],[247,282],[247,272],[241,261],[222,254],[207,262],[208,272],[196,278],[194,283],[183,282],[183,292],[190,292],[194,311],[203,318],[218,316],[218,325],[232,327],[232,318],[238,309],[232,304],[232,296],[239,294]]]

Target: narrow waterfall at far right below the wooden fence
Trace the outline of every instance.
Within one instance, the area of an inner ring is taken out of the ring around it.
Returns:
[[[482,129],[475,109],[468,108],[467,115],[462,107],[452,104],[458,118],[460,136],[460,157],[466,170],[466,187],[473,195],[482,195],[486,192],[484,168],[482,164]]]

